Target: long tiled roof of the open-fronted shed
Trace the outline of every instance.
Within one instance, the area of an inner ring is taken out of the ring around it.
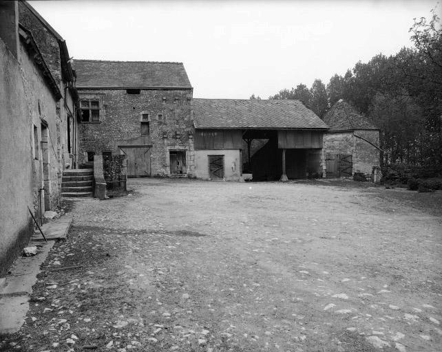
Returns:
[[[197,129],[328,129],[299,100],[193,99]]]

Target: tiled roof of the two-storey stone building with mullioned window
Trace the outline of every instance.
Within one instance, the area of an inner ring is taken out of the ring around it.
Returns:
[[[191,88],[182,63],[74,60],[77,88]]]

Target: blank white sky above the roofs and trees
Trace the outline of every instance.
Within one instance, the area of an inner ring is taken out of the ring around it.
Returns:
[[[70,56],[184,63],[195,98],[268,98],[412,44],[416,1],[29,1]],[[440,9],[440,4],[438,6]]]

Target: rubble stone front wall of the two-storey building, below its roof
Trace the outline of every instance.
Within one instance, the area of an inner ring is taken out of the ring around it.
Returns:
[[[187,174],[193,175],[192,91],[147,90],[127,94],[125,89],[79,89],[80,99],[100,100],[100,122],[79,125],[79,162],[87,151],[120,154],[118,146],[151,145],[151,176],[169,175],[169,151],[186,151]],[[140,134],[140,118],[149,113],[149,135]],[[162,115],[162,120],[158,118]],[[82,160],[83,158],[83,160]]]

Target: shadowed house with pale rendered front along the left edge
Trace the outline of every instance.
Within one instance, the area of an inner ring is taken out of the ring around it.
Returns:
[[[0,276],[33,232],[28,208],[41,219],[60,199],[75,94],[60,42],[43,54],[43,28],[28,3],[0,2]]]

